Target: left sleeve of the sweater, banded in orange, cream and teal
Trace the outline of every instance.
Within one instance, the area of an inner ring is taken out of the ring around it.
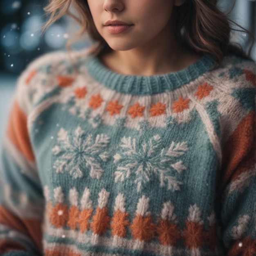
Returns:
[[[0,159],[0,255],[42,254],[43,191],[29,139],[29,82],[33,70],[18,80]]]

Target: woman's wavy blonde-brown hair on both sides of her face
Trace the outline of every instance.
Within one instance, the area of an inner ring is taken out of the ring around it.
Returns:
[[[254,43],[254,35],[230,20],[228,14],[222,13],[218,9],[217,2],[218,0],[184,0],[182,6],[175,7],[173,15],[177,38],[193,51],[215,59],[218,65],[228,53],[249,58]],[[71,5],[77,15],[69,11]],[[80,24],[80,29],[76,32],[72,41],[69,42],[69,45],[79,40],[87,32],[92,40],[98,42],[92,49],[95,56],[111,51],[94,25],[87,0],[49,0],[49,4],[44,10],[49,15],[49,20],[44,25],[44,29],[65,14],[71,16]],[[240,30],[232,29],[231,24],[240,27]],[[245,54],[240,45],[231,45],[230,34],[232,30],[244,31],[252,38],[248,54]]]

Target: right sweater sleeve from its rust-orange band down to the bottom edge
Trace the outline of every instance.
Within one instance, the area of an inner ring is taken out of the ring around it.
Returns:
[[[256,113],[254,106],[227,140],[222,157],[223,241],[228,256],[256,255]]]

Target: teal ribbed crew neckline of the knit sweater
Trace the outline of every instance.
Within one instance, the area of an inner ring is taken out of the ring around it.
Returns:
[[[153,76],[118,74],[104,66],[97,57],[90,59],[85,65],[94,80],[111,90],[133,95],[152,95],[180,88],[197,79],[215,64],[211,58],[203,56],[183,70]]]

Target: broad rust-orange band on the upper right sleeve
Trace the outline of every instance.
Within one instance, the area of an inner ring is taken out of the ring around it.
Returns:
[[[248,171],[256,163],[255,124],[256,114],[251,111],[238,124],[225,144],[222,157],[223,189],[228,182],[236,180],[241,173]]]

